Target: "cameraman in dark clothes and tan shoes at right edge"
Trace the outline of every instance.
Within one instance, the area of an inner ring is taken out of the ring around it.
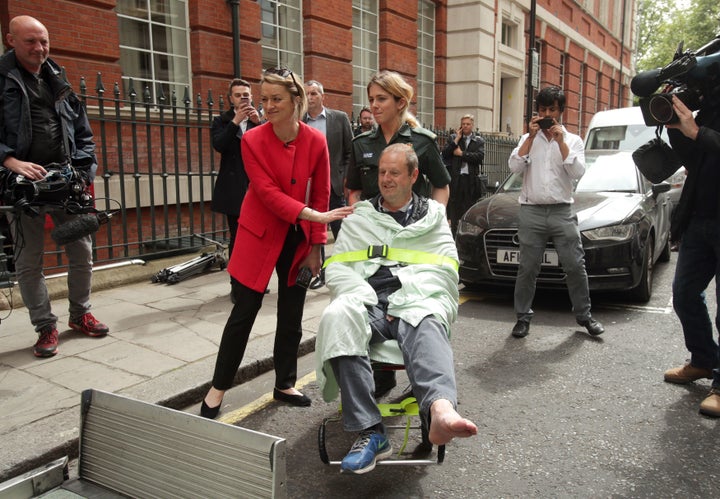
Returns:
[[[670,144],[687,170],[670,233],[673,241],[680,241],[673,307],[682,324],[690,361],[666,371],[665,381],[685,384],[712,379],[700,413],[720,417],[720,350],[705,301],[705,289],[713,278],[716,301],[720,292],[720,84],[709,88],[713,90],[706,94],[696,118],[673,96],[679,122],[666,125]],[[715,321],[720,327],[718,319]]]

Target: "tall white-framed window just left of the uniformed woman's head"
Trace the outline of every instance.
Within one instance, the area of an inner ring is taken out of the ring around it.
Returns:
[[[367,83],[378,70],[378,2],[353,0],[353,117],[367,106]]]

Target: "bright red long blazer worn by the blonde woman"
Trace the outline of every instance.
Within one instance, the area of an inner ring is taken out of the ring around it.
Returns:
[[[245,286],[262,293],[291,225],[305,233],[288,278],[295,283],[299,263],[311,245],[327,242],[324,224],[298,221],[305,206],[327,211],[330,198],[330,160],[325,136],[300,122],[294,141],[284,144],[265,123],[242,137],[242,158],[250,179],[238,218],[235,246],[228,272]],[[298,223],[299,222],[299,223]]]

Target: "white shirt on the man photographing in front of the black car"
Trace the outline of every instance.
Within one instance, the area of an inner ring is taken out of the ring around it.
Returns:
[[[527,156],[518,155],[529,137],[527,133],[510,154],[510,171],[523,174],[520,204],[573,202],[573,180],[585,174],[585,145],[579,136],[568,132],[564,126],[563,136],[570,150],[565,160],[555,139],[548,139],[542,131],[535,135]]]

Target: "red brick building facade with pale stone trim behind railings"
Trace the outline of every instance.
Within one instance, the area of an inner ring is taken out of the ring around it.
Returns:
[[[0,32],[5,41],[10,19],[38,18],[68,81],[77,90],[85,78],[96,192],[125,210],[121,235],[97,234],[102,261],[142,255],[158,239],[224,230],[209,210],[219,155],[206,129],[236,66],[257,83],[263,68],[285,63],[321,81],[326,104],[349,115],[365,104],[369,75],[392,69],[416,88],[412,110],[426,126],[455,127],[470,112],[481,131],[522,133],[530,1],[4,0]],[[537,0],[539,84],[565,88],[573,131],[584,133],[595,111],[629,103],[634,5]],[[177,103],[178,116],[161,102]]]

